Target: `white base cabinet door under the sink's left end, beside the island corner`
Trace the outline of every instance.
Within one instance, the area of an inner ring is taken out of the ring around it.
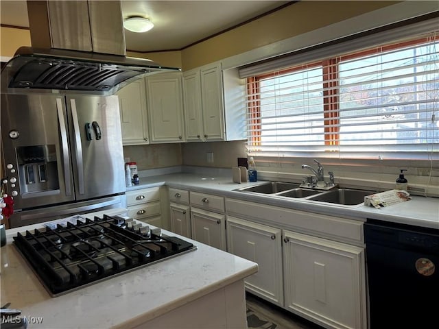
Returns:
[[[228,252],[258,264],[258,272],[245,279],[246,289],[283,306],[281,230],[227,217]]]

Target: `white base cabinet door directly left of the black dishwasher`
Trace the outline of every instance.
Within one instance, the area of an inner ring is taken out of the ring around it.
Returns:
[[[364,248],[284,236],[285,308],[326,328],[367,328]]]

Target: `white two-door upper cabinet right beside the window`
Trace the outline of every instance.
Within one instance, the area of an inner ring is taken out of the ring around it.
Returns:
[[[186,71],[183,95],[187,141],[245,139],[244,91],[237,71],[223,73],[220,62]]]

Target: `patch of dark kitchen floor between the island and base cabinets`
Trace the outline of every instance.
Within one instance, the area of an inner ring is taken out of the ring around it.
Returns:
[[[248,329],[322,329],[283,308],[246,293]]]

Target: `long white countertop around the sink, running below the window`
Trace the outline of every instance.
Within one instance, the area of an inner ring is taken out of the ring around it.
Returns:
[[[366,219],[372,218],[394,223],[405,223],[414,226],[439,229],[439,198],[437,197],[420,197],[412,195],[412,200],[410,201],[376,209],[372,206],[364,206],[364,204],[359,206],[343,206],[324,202],[310,202],[309,200],[304,199],[256,195],[254,193],[233,191],[236,188],[261,184],[263,181],[237,184],[233,182],[231,173],[229,177],[225,177],[224,175],[203,175],[196,173],[170,173],[167,175],[141,177],[140,182],[141,184],[128,188],[128,191],[137,188],[167,185],[174,188],[187,189],[189,191],[212,193],[248,202],[258,202],[261,204],[305,210],[323,215],[333,215],[360,221],[366,221]]]

